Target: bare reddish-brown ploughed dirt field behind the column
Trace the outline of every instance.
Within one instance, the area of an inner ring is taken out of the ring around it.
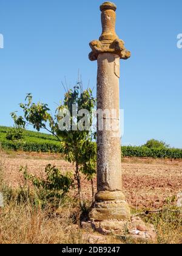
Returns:
[[[20,166],[28,166],[29,172],[44,175],[47,164],[58,166],[62,171],[72,171],[74,166],[58,155],[9,153],[0,154],[0,163],[9,185],[16,187],[22,182]],[[122,163],[123,188],[127,201],[135,208],[160,208],[165,199],[182,191],[182,161],[124,158]],[[84,197],[91,198],[90,183],[82,180]],[[90,188],[88,190],[88,187]],[[95,180],[96,189],[96,180]]]

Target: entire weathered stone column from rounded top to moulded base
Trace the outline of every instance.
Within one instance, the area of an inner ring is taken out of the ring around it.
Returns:
[[[105,2],[100,10],[103,33],[99,40],[90,43],[89,59],[98,62],[97,109],[104,115],[102,118],[98,115],[97,193],[90,219],[97,222],[127,221],[130,220],[130,209],[122,192],[121,180],[119,79],[120,59],[128,59],[130,52],[115,32],[116,5]],[[108,115],[112,112],[114,116]]]

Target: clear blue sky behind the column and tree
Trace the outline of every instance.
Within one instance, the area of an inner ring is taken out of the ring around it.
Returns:
[[[95,87],[96,62],[89,42],[101,35],[101,0],[0,0],[0,125],[12,126],[26,93],[54,112],[63,98],[61,81]],[[115,0],[116,32],[132,52],[121,61],[123,144],[150,138],[182,148],[181,0]]]

